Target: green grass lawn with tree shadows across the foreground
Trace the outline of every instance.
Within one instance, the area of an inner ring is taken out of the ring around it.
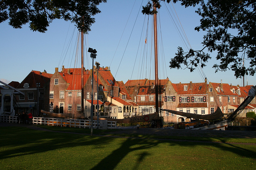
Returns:
[[[26,127],[0,127],[0,167],[255,170],[256,145],[101,137],[36,131]]]

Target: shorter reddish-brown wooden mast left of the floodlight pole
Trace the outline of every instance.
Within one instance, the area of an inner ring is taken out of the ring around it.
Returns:
[[[84,113],[84,32],[81,31],[81,113]]]

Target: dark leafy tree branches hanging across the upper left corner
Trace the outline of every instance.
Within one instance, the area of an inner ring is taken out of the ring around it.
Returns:
[[[22,28],[29,23],[32,31],[44,33],[54,19],[72,21],[80,31],[88,33],[100,13],[97,6],[107,0],[1,0],[0,23]]]

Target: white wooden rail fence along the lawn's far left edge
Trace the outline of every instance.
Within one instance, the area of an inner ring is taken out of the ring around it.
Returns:
[[[17,116],[1,115],[0,121],[17,123]],[[80,119],[58,119],[58,118],[48,118],[48,117],[33,117],[33,124],[36,125],[48,125],[48,126],[61,126],[61,127],[79,127],[79,128],[90,128],[90,120],[80,120]],[[97,121],[92,121],[93,128],[97,128]],[[116,121],[99,121],[100,129],[116,129]]]

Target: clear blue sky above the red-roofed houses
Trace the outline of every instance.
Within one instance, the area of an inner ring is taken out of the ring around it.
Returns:
[[[150,58],[152,41],[150,33],[146,34],[146,27],[143,27],[147,22],[144,22],[145,16],[140,12],[141,4],[146,5],[147,1],[108,0],[107,3],[100,4],[98,7],[102,12],[94,16],[96,23],[92,25],[92,31],[85,36],[85,51],[88,47],[96,49],[98,51],[96,61],[100,66],[110,66],[116,80],[124,83],[128,79],[154,79],[152,73],[154,68]],[[201,42],[205,32],[194,31],[200,20],[194,11],[199,6],[196,8],[184,8],[179,4],[174,4],[174,8],[172,4],[166,6],[173,12],[175,8],[191,47],[195,50],[202,49]],[[184,67],[180,70],[168,67],[177,47],[183,47],[184,51],[186,47],[163,3],[158,16],[160,21],[158,40],[162,42],[158,43],[159,78],[164,79],[168,76],[173,83],[204,82],[204,76],[200,76],[201,73],[197,70],[190,72]],[[150,25],[151,19],[149,20]],[[148,29],[148,32],[150,31],[151,26]],[[46,33],[33,32],[28,25],[24,25],[22,29],[14,29],[7,21],[0,23],[0,79],[21,82],[31,70],[41,72],[46,70],[53,74],[55,67],[60,70],[62,65],[65,68],[79,67],[80,59],[76,65],[74,64],[77,35],[78,31],[74,23],[63,20],[50,23]],[[145,44],[146,38],[147,44]],[[148,50],[144,51],[145,48]],[[215,73],[212,66],[219,61],[214,59],[216,53],[210,55],[212,60],[202,69],[208,81],[220,83],[222,80],[223,83],[242,86],[242,80],[236,79],[232,71]],[[92,59],[87,52],[84,66],[86,69],[92,68]],[[246,76],[246,79],[248,84],[256,85],[255,76]]]

